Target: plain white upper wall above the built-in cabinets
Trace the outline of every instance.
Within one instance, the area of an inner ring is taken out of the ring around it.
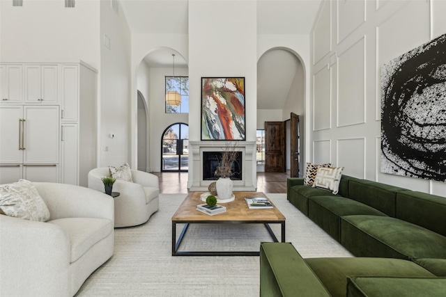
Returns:
[[[99,69],[99,1],[0,1],[0,61],[66,63]]]

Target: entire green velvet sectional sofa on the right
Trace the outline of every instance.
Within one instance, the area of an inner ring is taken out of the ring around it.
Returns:
[[[287,199],[355,257],[261,244],[261,296],[446,296],[446,198],[343,175],[339,192],[287,181]]]

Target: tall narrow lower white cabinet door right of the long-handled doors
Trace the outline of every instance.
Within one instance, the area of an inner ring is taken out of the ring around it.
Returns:
[[[61,128],[61,183],[78,183],[77,124],[65,123]]]

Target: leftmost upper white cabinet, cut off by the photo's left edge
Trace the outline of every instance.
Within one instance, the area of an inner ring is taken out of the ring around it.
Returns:
[[[23,102],[23,65],[0,65],[1,103]]]

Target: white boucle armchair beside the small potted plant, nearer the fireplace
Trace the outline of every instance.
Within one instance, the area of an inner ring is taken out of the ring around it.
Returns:
[[[130,227],[144,224],[160,207],[160,184],[158,177],[148,172],[131,170],[133,182],[116,180],[113,191],[120,195],[114,198],[114,227]],[[108,167],[89,172],[89,188],[104,192],[102,177],[108,177]]]

